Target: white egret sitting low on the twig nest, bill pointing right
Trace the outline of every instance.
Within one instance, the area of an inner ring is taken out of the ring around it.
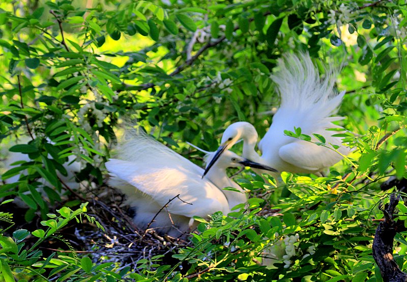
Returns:
[[[192,226],[193,216],[207,218],[215,211],[229,213],[237,204],[246,202],[243,189],[231,181],[227,167],[252,166],[274,170],[226,151],[214,163],[216,169],[202,179],[203,169],[156,140],[137,133],[118,146],[118,158],[105,163],[111,175],[110,186],[127,195],[127,203],[135,207],[133,221],[145,229],[180,236]],[[211,157],[211,156],[209,156]],[[223,190],[232,187],[236,191]],[[180,195],[181,199],[169,199]],[[168,213],[158,211],[166,204]],[[175,225],[175,226],[174,226]]]

